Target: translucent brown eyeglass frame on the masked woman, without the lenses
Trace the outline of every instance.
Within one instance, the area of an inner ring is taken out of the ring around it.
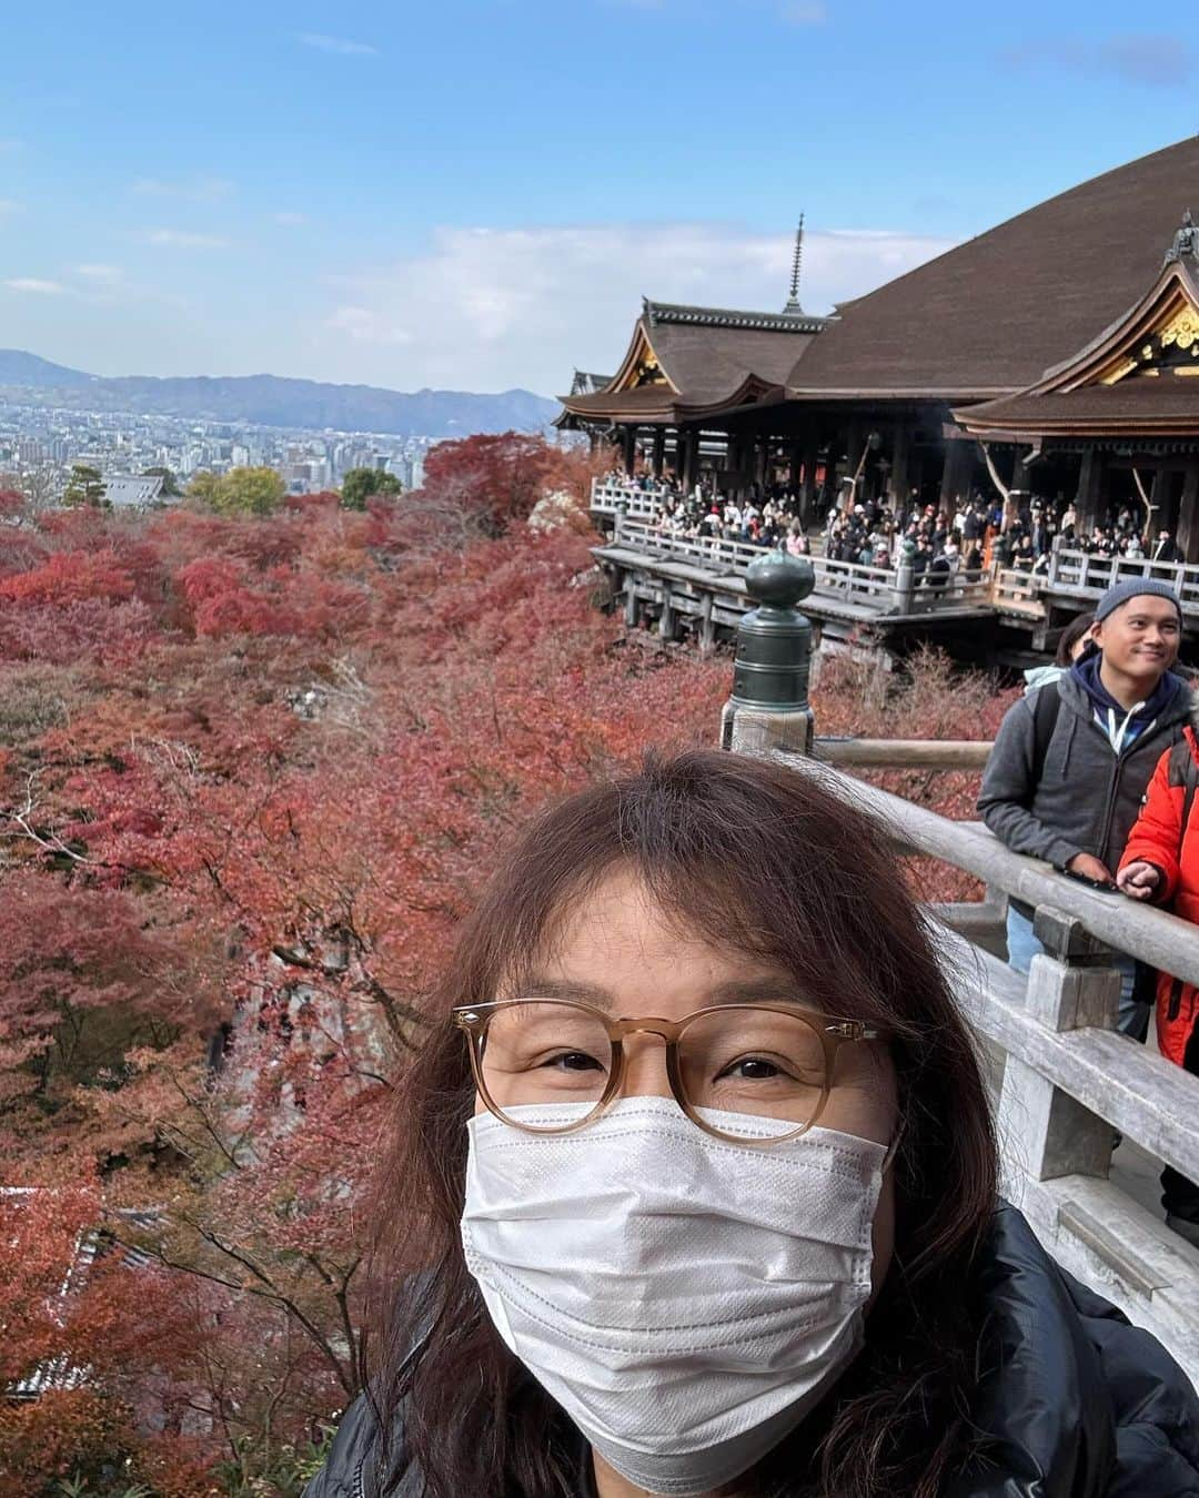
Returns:
[[[559,1128],[522,1124],[517,1119],[510,1118],[492,1097],[483,1068],[483,1047],[487,1038],[487,1026],[492,1023],[492,1019],[502,1010],[529,1008],[535,1004],[553,1004],[559,1008],[567,1007],[579,1010],[604,1028],[611,1046],[611,1071],[601,1097],[595,1103],[595,1107],[582,1119]],[[679,1041],[689,1025],[710,1014],[745,1014],[746,1011],[766,1011],[772,1014],[785,1014],[790,1019],[805,1020],[824,1052],[823,1086],[815,1109],[812,1110],[812,1116],[784,1134],[772,1134],[766,1138],[758,1135],[746,1137],[742,1134],[727,1134],[707,1124],[700,1115],[700,1110],[695,1109],[686,1097],[682,1070],[679,1065]],[[782,1144],[788,1138],[797,1138],[800,1134],[806,1134],[809,1128],[814,1128],[820,1122],[820,1116],[827,1106],[829,1095],[833,1088],[836,1058],[842,1046],[853,1044],[856,1041],[884,1041],[890,1038],[887,1031],[874,1025],[865,1025],[862,1020],[838,1019],[835,1016],[821,1014],[817,1010],[803,1008],[797,1004],[713,1004],[703,1010],[694,1010],[691,1014],[685,1014],[680,1020],[664,1020],[653,1016],[646,1019],[613,1019],[602,1010],[597,1010],[591,1004],[582,1004],[576,999],[495,999],[490,1004],[463,1004],[451,1010],[450,1014],[454,1025],[466,1034],[475,1088],[478,1089],[478,1095],[483,1098],[489,1113],[493,1113],[510,1128],[520,1129],[525,1134],[574,1134],[579,1129],[586,1128],[589,1124],[594,1124],[610,1107],[613,1100],[622,1094],[625,1080],[625,1038],[629,1035],[656,1035],[665,1043],[665,1071],[674,1101],[697,1128],[701,1128],[704,1134],[713,1134],[716,1138],[736,1140],[739,1144]]]

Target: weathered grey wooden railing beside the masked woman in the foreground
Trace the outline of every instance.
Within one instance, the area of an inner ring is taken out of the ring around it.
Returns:
[[[728,742],[778,755],[791,719],[731,713]],[[958,1001],[1001,1059],[997,1125],[1003,1188],[1049,1251],[1159,1336],[1199,1380],[1199,1251],[1109,1179],[1117,1134],[1199,1180],[1199,1079],[1115,1032],[1114,953],[1199,983],[1199,930],[1120,894],[1093,893],[1012,852],[986,828],[955,822],[845,773],[847,765],[977,770],[988,745],[817,739],[787,753],[799,773],[874,813],[907,854],[943,860],[986,885],[974,905],[931,911]],[[1036,909],[1046,948],[1025,978],[995,956],[1009,897]]]

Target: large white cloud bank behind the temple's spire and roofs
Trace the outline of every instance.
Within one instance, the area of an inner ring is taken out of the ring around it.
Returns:
[[[860,297],[952,246],[892,231],[809,231],[809,312]],[[719,223],[442,229],[427,255],[334,280],[339,300],[309,351],[325,377],[411,388],[546,394],[571,370],[614,370],[641,294],[781,309],[793,240]]]

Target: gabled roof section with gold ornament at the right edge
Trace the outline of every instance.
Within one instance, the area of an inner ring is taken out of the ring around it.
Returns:
[[[1027,389],[955,415],[977,436],[1199,433],[1199,229],[1190,214],[1127,312]]]

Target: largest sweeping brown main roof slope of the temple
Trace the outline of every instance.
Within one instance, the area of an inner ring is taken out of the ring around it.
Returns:
[[[1031,386],[1142,295],[1196,187],[1190,136],[842,303],[788,395],[983,400]]]

